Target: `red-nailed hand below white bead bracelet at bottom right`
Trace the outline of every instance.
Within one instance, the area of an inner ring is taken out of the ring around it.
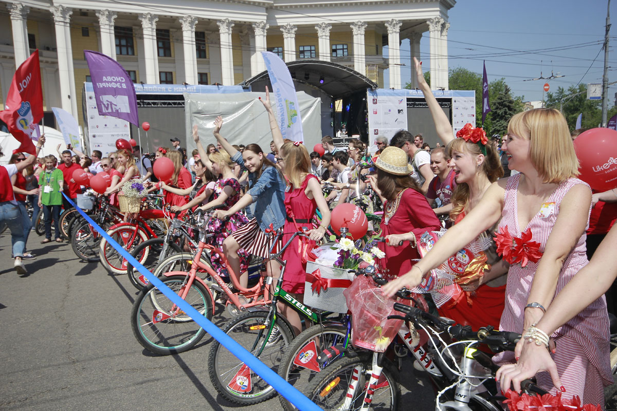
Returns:
[[[521,347],[521,349],[520,349]],[[555,385],[561,391],[564,391],[559,374],[557,373],[557,365],[553,361],[544,346],[537,345],[534,341],[524,340],[521,338],[518,344],[516,344],[515,356],[518,355],[520,349],[521,357],[516,364],[507,364],[497,370],[495,379],[499,381],[500,386],[505,391],[510,388],[510,384],[513,385],[514,390],[518,393],[521,391],[521,381],[532,378],[540,371],[547,371],[550,374],[550,378]]]

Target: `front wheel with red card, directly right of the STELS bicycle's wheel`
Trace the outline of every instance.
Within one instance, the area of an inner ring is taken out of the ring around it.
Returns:
[[[315,368],[311,369],[309,368],[310,366],[323,369],[332,361],[339,358],[334,357],[326,364],[318,365],[315,361],[318,354],[328,347],[344,343],[346,335],[347,327],[343,324],[317,324],[307,328],[289,344],[281,360],[281,365],[278,367],[278,375],[283,377],[289,384],[302,391],[300,387],[307,387],[311,381],[313,381],[315,375],[318,375]],[[312,341],[315,341],[315,347],[310,346]],[[307,347],[307,345],[309,346]],[[298,357],[301,352],[306,354],[302,356],[302,359],[299,359]],[[298,361],[296,361],[296,359]],[[309,367],[300,365],[298,362],[308,363]],[[296,410],[296,407],[285,397],[279,396],[278,399],[281,401],[284,410]]]

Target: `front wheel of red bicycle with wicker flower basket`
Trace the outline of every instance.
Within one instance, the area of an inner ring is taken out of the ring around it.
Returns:
[[[136,246],[148,239],[148,234],[138,226],[137,235],[135,235],[131,245],[126,248],[126,242],[128,242],[130,238],[133,238],[134,232],[135,226],[126,224],[110,229],[107,231],[107,234],[114,238],[114,240],[122,246],[122,248],[129,253],[132,253]],[[101,243],[99,244],[99,256],[101,258],[101,264],[111,274],[126,274],[126,264],[128,264],[128,261],[126,261],[122,254],[115,250],[115,248],[112,247],[105,238],[102,238]],[[147,253],[144,253],[142,258],[146,259]]]

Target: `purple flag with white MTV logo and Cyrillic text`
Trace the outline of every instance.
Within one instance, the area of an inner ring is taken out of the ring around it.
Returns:
[[[139,127],[135,86],[126,70],[114,59],[84,50],[99,115],[122,118]]]

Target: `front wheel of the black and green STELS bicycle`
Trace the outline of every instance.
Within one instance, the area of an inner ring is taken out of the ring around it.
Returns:
[[[263,342],[268,337],[270,317],[271,314],[268,311],[247,312],[228,322],[223,331],[276,372],[276,367],[283,357],[284,348],[291,343],[293,334],[284,320],[276,317],[270,336],[271,342],[267,343],[260,353]],[[221,396],[234,404],[258,404],[276,395],[272,386],[247,368],[218,341],[213,341],[212,349],[210,349],[208,368],[214,388]],[[234,389],[236,387],[237,389]]]

